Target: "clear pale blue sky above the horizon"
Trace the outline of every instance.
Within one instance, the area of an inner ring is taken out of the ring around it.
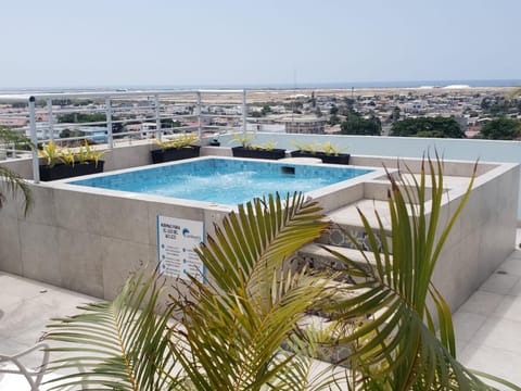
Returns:
[[[521,79],[520,15],[520,0],[5,0],[0,89]]]

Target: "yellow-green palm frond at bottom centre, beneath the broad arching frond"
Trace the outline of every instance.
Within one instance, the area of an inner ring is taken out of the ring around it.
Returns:
[[[325,289],[290,270],[284,277],[272,282],[274,289],[283,293],[274,300],[270,312],[259,311],[255,301],[245,299],[244,291],[216,298],[208,290],[200,293],[193,306],[183,304],[183,329],[178,331],[173,350],[190,382],[199,384],[198,390],[260,390],[282,374],[287,382],[279,379],[281,389],[295,389],[295,379],[308,381],[302,378],[307,352],[289,354],[281,346]],[[200,288],[201,292],[204,288]]]

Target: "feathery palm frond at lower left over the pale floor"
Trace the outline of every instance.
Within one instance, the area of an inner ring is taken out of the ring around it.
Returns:
[[[169,351],[167,321],[171,308],[156,316],[163,289],[155,274],[128,279],[113,302],[87,304],[82,313],[52,319],[45,337],[51,352],[67,354],[49,370],[76,369],[52,380],[53,389],[67,386],[117,390],[168,390],[176,386],[175,361]],[[78,368],[81,368],[78,370]]]

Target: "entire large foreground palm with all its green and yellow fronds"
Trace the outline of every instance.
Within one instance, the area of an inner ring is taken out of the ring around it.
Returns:
[[[302,194],[285,202],[278,195],[254,200],[225,218],[198,250],[208,280],[192,278],[157,316],[161,277],[140,274],[114,302],[54,319],[47,339],[65,344],[52,351],[75,352],[55,365],[85,367],[62,380],[87,384],[82,378],[87,376],[88,384],[117,390],[490,389],[456,361],[450,312],[431,282],[472,181],[440,231],[443,166],[428,161],[427,169],[429,203],[425,169],[409,184],[414,191],[389,175],[393,256],[386,240],[380,253],[361,213],[376,265],[366,260],[368,265],[360,267],[333,253],[346,266],[342,273],[359,282],[343,288],[333,283],[338,275],[288,267],[292,254],[328,226],[315,202],[304,201]],[[420,202],[409,212],[407,201],[414,199]],[[429,211],[425,204],[431,205]],[[386,238],[378,220],[378,234]],[[345,295],[345,290],[358,294]],[[425,304],[430,300],[433,307]],[[327,338],[301,327],[305,314],[316,310],[334,319]],[[310,375],[315,363],[310,357],[325,340],[351,345],[348,369],[326,364]]]

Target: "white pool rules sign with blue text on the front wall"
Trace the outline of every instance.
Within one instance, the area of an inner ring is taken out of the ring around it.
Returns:
[[[204,266],[195,251],[203,241],[204,224],[183,218],[157,216],[160,272],[166,276],[204,282]]]

